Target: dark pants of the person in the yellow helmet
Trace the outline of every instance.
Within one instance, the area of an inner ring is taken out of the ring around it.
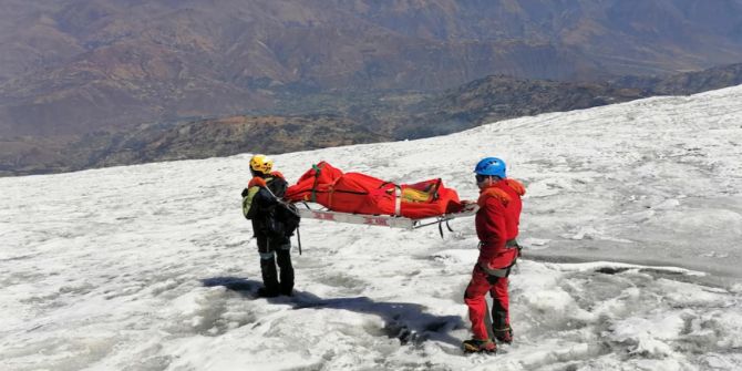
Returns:
[[[291,266],[291,241],[288,237],[276,239],[258,236],[262,285],[268,292],[291,295],[293,290],[293,266]],[[280,277],[278,269],[280,269]],[[280,280],[279,280],[280,278]]]

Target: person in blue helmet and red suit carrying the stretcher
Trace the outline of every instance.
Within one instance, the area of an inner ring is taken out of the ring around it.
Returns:
[[[523,184],[506,177],[505,162],[486,157],[476,164],[476,184],[480,187],[476,213],[476,235],[480,257],[464,293],[468,307],[473,337],[464,341],[465,352],[495,352],[497,346],[489,339],[485,324],[487,292],[493,298],[492,332],[502,343],[513,341],[509,320],[507,277],[521,248],[516,241],[521,223]]]

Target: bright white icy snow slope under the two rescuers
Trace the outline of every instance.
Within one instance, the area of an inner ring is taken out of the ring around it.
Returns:
[[[327,159],[476,197],[485,155],[528,189],[515,343],[464,355],[472,218],[305,220],[297,295],[255,297],[249,154],[0,178],[2,370],[740,370],[742,86],[499,122]]]

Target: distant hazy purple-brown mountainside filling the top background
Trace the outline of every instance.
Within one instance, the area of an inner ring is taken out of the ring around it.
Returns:
[[[63,137],[327,92],[739,62],[742,0],[4,0],[0,31],[0,136]]]

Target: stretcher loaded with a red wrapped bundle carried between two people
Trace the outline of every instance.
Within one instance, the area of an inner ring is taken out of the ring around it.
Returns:
[[[285,198],[308,219],[415,229],[476,214],[440,178],[396,185],[361,173],[343,173],[327,162],[313,165],[288,187]],[[449,226],[451,230],[451,227]]]

